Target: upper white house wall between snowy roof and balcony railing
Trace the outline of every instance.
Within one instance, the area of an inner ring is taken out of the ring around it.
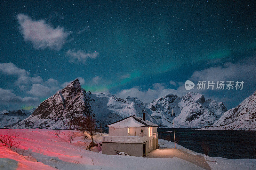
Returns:
[[[152,129],[155,127],[152,127]],[[141,133],[141,129],[143,133]],[[148,127],[134,127],[130,128],[130,133],[128,133],[128,128],[108,128],[109,136],[147,136],[148,135]]]

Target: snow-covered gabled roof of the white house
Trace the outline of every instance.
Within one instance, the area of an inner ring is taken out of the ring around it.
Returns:
[[[150,122],[148,120],[143,120],[141,117],[129,116],[119,121],[116,121],[112,124],[108,124],[106,127],[113,127],[113,128],[126,128],[126,127],[157,127],[157,124]]]

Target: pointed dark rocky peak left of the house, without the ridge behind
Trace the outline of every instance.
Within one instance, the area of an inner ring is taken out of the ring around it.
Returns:
[[[85,94],[76,79],[42,102],[32,115],[14,128],[66,128],[68,121],[78,121],[86,115],[94,116]]]

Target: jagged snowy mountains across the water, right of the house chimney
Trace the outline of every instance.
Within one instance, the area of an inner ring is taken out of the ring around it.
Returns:
[[[227,108],[224,104],[190,92],[181,98],[166,95],[144,104],[152,112],[158,124],[172,126],[172,108],[175,127],[198,128],[214,124]]]

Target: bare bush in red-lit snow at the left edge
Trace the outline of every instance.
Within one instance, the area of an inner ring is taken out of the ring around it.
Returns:
[[[7,133],[7,135],[0,135],[0,142],[2,145],[7,146],[10,149],[18,148],[20,145],[20,141],[17,141],[16,138],[19,137],[20,134],[16,134],[13,132],[11,135]]]

